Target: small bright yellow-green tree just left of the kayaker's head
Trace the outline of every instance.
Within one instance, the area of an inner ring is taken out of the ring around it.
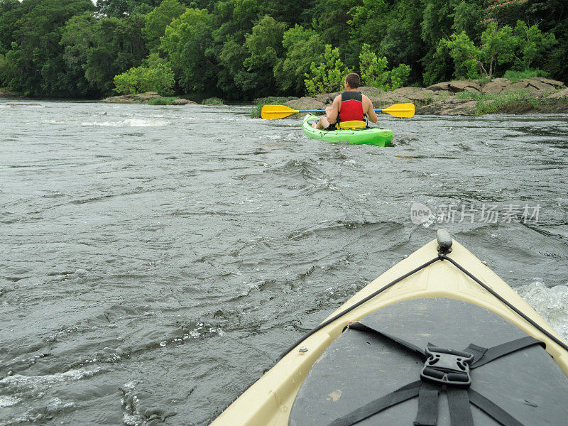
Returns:
[[[310,96],[319,93],[336,92],[341,90],[345,76],[351,70],[346,69],[339,59],[339,48],[325,45],[322,62],[310,64],[310,72],[305,74],[305,86]]]

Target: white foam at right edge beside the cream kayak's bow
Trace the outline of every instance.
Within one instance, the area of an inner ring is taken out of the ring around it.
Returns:
[[[564,340],[568,340],[568,287],[547,287],[540,280],[515,288],[517,293],[554,328]]]

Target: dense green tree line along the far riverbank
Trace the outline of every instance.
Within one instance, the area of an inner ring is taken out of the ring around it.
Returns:
[[[34,97],[567,80],[567,58],[565,0],[0,0],[0,87]]]

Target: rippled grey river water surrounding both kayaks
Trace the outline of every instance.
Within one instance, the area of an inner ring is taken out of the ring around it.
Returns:
[[[0,425],[207,425],[440,226],[568,337],[567,115],[249,110],[0,100]]]

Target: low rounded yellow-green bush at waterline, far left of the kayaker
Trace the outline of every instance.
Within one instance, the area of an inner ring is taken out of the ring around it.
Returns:
[[[170,67],[157,64],[155,67],[133,67],[114,77],[115,92],[136,94],[158,92],[161,95],[173,94],[173,71]]]

